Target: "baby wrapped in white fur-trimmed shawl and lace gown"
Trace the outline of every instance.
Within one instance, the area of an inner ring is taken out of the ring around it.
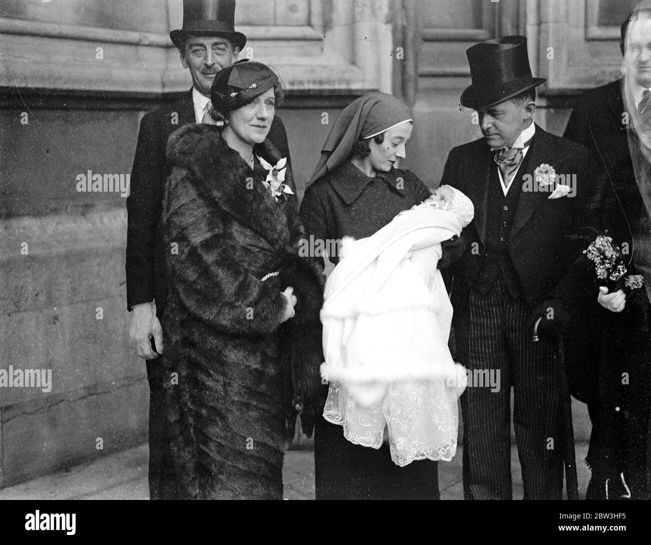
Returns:
[[[441,186],[361,240],[344,238],[326,282],[322,377],[324,418],[355,444],[380,448],[385,426],[391,458],[451,460],[464,367],[448,349],[452,305],[441,272],[441,242],[473,219],[463,193]]]

